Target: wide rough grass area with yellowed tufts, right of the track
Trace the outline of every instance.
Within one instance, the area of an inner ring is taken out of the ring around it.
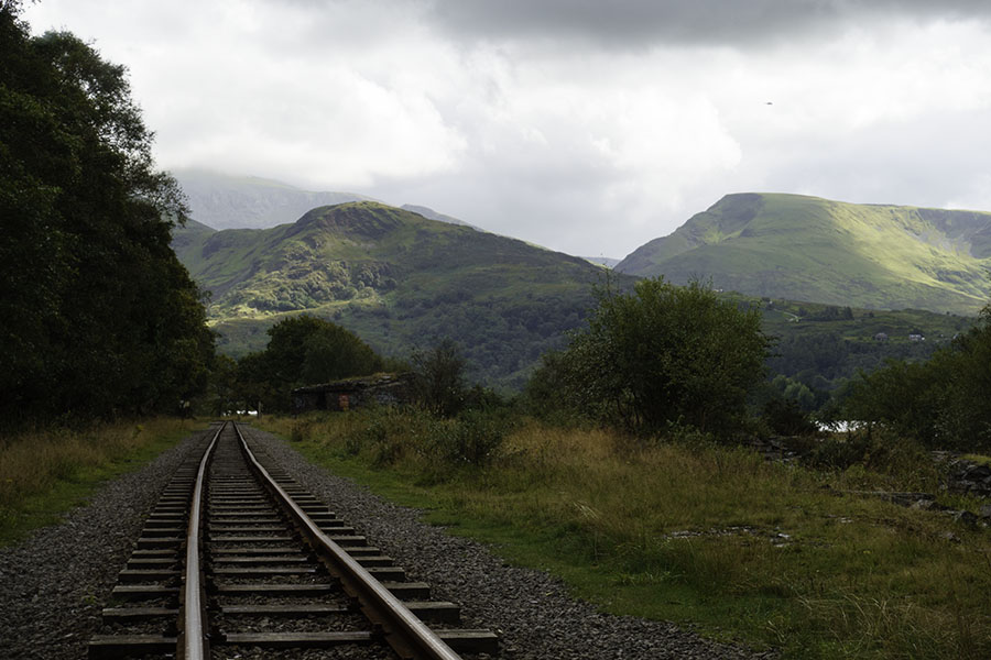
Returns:
[[[442,439],[456,422],[418,414],[262,424],[609,612],[786,658],[991,657],[991,534],[839,494],[918,487],[926,474],[820,473],[697,439],[533,421],[482,442],[491,451],[476,461]]]

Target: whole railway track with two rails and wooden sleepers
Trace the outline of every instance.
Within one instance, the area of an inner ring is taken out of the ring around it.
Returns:
[[[149,516],[90,658],[410,658],[493,653],[488,630],[370,547],[246,440],[217,426]],[[443,627],[432,630],[424,622]]]

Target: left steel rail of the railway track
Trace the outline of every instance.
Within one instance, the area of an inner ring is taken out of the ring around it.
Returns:
[[[199,568],[199,514],[203,509],[203,482],[206,479],[207,465],[217,447],[217,439],[228,422],[220,425],[209,447],[199,461],[196,473],[196,487],[189,503],[189,525],[186,530],[186,585],[183,592],[183,631],[176,645],[181,660],[206,660],[210,657],[210,644],[204,630],[203,585]]]

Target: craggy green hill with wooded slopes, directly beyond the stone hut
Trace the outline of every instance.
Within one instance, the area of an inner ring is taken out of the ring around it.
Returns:
[[[450,337],[469,376],[505,386],[521,385],[581,323],[602,277],[578,257],[368,201],[272,229],[188,223],[173,244],[211,292],[209,316],[229,354],[264,348],[268,327],[309,311],[396,356]]]

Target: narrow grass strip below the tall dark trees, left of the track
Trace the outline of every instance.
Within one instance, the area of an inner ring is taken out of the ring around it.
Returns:
[[[137,470],[202,424],[174,418],[0,437],[0,546],[57,522],[100,483]]]

